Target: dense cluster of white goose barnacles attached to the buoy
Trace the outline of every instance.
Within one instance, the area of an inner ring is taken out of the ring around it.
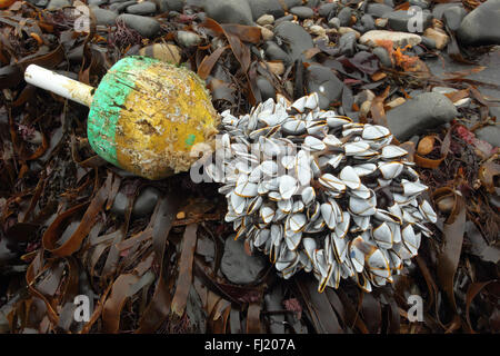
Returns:
[[[323,111],[318,96],[222,115],[209,176],[228,199],[237,238],[289,278],[303,269],[318,290],[352,278],[367,291],[392,281],[430,236],[437,216],[408,152],[386,127]]]

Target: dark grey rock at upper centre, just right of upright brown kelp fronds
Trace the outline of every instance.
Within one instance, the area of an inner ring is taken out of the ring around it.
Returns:
[[[311,36],[293,22],[282,22],[274,29],[274,34],[281,38],[291,61],[299,58],[306,60],[303,52],[313,47]]]

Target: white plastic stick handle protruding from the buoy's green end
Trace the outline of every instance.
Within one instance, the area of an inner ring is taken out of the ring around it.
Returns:
[[[90,107],[92,103],[92,87],[42,67],[36,65],[28,66],[24,71],[24,80],[30,85],[49,90],[87,107]]]

